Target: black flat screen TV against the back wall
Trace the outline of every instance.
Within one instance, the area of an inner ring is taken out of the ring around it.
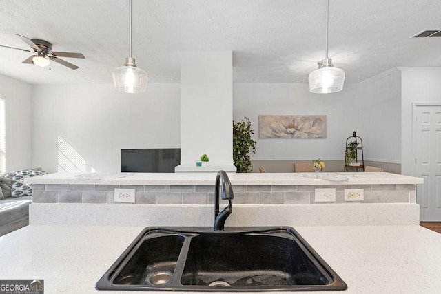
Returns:
[[[174,173],[181,149],[121,149],[121,172]]]

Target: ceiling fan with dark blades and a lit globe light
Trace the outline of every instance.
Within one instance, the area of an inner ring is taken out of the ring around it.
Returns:
[[[23,40],[26,44],[30,45],[30,47],[34,51],[5,46],[5,45],[0,45],[0,47],[18,49],[18,50],[23,50],[25,52],[36,53],[35,55],[28,57],[28,59],[25,59],[23,63],[30,63],[44,67],[44,66],[48,66],[50,64],[50,61],[52,60],[57,63],[60,63],[61,65],[67,66],[72,70],[76,70],[77,68],[79,68],[78,66],[69,63],[68,61],[64,61],[63,59],[59,59],[59,57],[70,57],[74,59],[85,58],[84,55],[81,53],[52,51],[52,44],[49,43],[48,41],[44,41],[41,39],[29,39],[19,34],[15,34],[15,35],[18,36],[21,40]]]

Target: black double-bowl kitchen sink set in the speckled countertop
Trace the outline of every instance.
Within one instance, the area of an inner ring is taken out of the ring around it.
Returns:
[[[291,227],[145,228],[99,290],[331,291],[347,285]]]

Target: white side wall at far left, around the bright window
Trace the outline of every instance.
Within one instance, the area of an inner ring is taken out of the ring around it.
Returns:
[[[6,102],[6,171],[28,169],[32,167],[32,85],[0,75],[0,95]]]

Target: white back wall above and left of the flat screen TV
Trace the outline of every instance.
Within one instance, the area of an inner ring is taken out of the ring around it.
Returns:
[[[116,172],[120,149],[180,147],[179,84],[36,85],[32,103],[32,163],[46,171]]]

